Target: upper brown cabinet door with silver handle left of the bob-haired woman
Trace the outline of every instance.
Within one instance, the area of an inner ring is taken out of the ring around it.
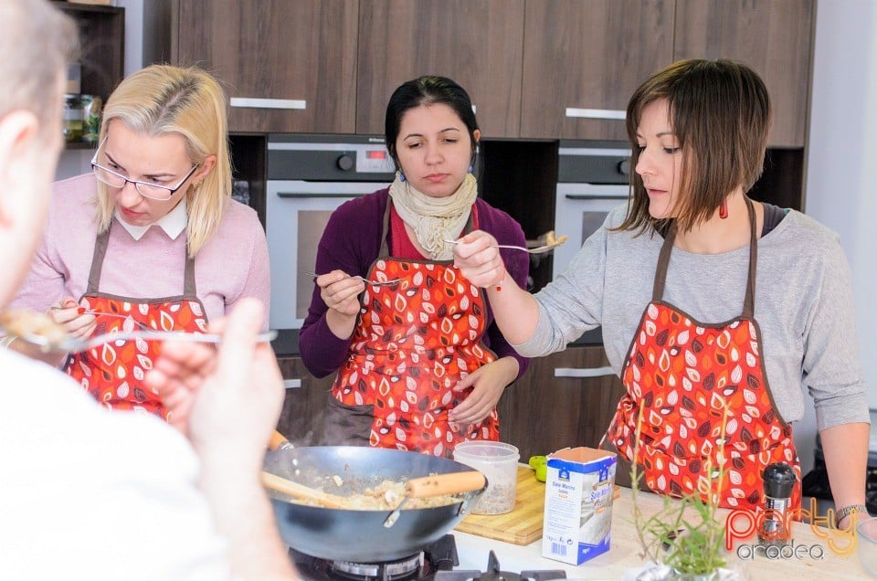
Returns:
[[[528,0],[521,136],[627,139],[633,91],[672,60],[673,0]]]

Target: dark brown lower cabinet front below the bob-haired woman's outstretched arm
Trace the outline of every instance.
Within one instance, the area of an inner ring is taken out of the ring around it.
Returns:
[[[566,447],[597,448],[623,394],[602,346],[535,358],[500,400],[500,439],[517,446],[523,462]]]

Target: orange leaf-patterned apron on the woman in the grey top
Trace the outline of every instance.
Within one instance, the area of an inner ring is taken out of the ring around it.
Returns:
[[[640,403],[643,417],[636,461],[646,486],[682,496],[708,490],[707,467],[718,467],[717,440],[724,409],[725,479],[717,487],[727,508],[754,510],[764,492],[762,472],[786,462],[798,484],[792,507],[800,506],[800,466],[792,428],[777,414],[767,384],[758,323],[755,322],[755,209],[747,198],[751,239],[743,314],[729,322],[703,323],[662,301],[675,228],[660,249],[652,301],[643,312],[622,373],[627,394],[608,439],[633,461]]]

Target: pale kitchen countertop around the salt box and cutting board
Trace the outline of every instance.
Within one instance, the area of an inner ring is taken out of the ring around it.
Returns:
[[[565,570],[569,579],[621,579],[626,571],[643,565],[643,559],[639,556],[636,529],[631,522],[630,493],[630,489],[622,488],[620,496],[613,504],[611,541],[608,553],[597,555],[582,565],[567,565],[560,561],[543,558],[541,556],[541,540],[526,546],[519,546],[454,531],[460,555],[458,568],[484,570],[487,567],[488,555],[492,550],[503,571],[557,569]],[[644,492],[640,493],[638,502],[642,512],[650,515],[660,509],[662,497]],[[727,513],[727,511],[723,513]],[[827,536],[819,538],[817,533]],[[743,560],[736,555],[741,544],[741,542],[736,541],[733,552],[728,555],[727,560],[729,565],[738,565],[740,569],[747,572],[750,581],[762,579],[776,581],[780,578],[840,580],[867,577],[859,565],[858,555],[853,553],[849,556],[840,556],[829,549],[829,541],[832,539],[840,546],[847,546],[848,541],[840,539],[838,532],[824,528],[814,530],[808,524],[795,523],[792,537],[795,547],[819,545],[824,550],[824,555],[821,559],[811,558],[808,554],[802,554],[802,558],[793,556],[789,559],[770,559],[765,555],[757,555],[754,560]],[[745,540],[742,543],[757,543],[757,539]],[[748,551],[748,548],[744,550]],[[798,550],[804,551],[800,548]],[[819,550],[815,549],[812,553],[819,555]]]

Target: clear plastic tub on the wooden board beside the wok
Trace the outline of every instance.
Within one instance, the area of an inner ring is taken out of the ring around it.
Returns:
[[[474,514],[502,514],[514,508],[518,484],[518,449],[512,444],[483,440],[460,442],[454,460],[480,470],[487,477],[487,490],[472,508]]]

